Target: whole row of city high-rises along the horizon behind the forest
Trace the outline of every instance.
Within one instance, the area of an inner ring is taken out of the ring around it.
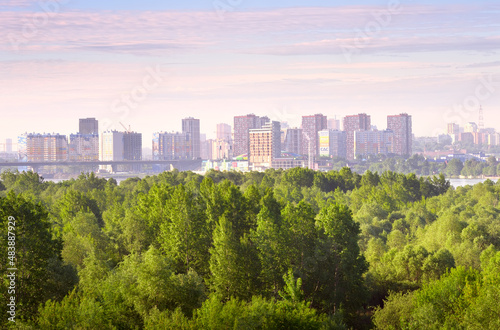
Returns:
[[[379,130],[371,125],[371,117],[365,113],[344,117],[344,130],[342,131],[327,128],[328,118],[322,114],[303,116],[302,121],[302,128],[296,129],[290,128],[285,123],[254,114],[235,116],[234,141],[228,132],[231,126],[226,124],[217,125],[217,133],[223,139],[202,141],[201,136],[205,139],[205,134],[200,134],[200,120],[188,117],[182,120],[182,133],[157,132],[151,140],[152,149],[146,150],[142,147],[142,133],[132,132],[130,128],[127,129],[123,125],[124,132],[107,130],[102,134],[97,134],[95,132],[99,127],[98,120],[80,118],[80,132],[71,134],[69,139],[60,134],[23,134],[19,137],[22,147],[18,156],[21,164],[27,164],[23,163],[26,160],[28,163],[48,162],[47,164],[65,161],[85,164],[98,160],[104,162],[143,159],[151,161],[199,160],[203,161],[201,168],[205,171],[221,168],[248,171],[294,167],[318,170],[321,166],[331,166],[328,164],[331,159],[344,159],[349,162],[373,159],[373,156],[377,155],[413,157],[420,154],[425,157],[430,156],[431,161],[441,162],[449,157],[480,157],[484,161],[483,158],[486,156],[482,152],[471,154],[466,149],[457,150],[456,146],[467,146],[472,149],[479,146],[480,148],[487,147],[488,150],[500,146],[500,133],[491,128],[484,128],[483,122],[479,122],[479,125],[469,122],[465,127],[449,123],[446,126],[447,134],[440,135],[435,138],[434,142],[431,142],[442,144],[441,148],[448,149],[436,149],[429,153],[426,151],[426,146],[423,146],[422,150],[421,145],[422,141],[429,141],[429,138],[412,138],[412,116],[405,113],[387,115],[387,129],[385,130]],[[336,122],[335,125],[337,124]],[[315,138],[312,138],[313,136]],[[420,150],[415,154],[412,150],[413,140],[420,144]],[[306,142],[305,145],[304,142]],[[456,142],[458,144],[455,144]],[[239,152],[237,148],[233,148],[238,144],[239,148],[243,149]],[[238,153],[235,154],[235,151]],[[243,154],[240,154],[241,152]],[[12,154],[9,156],[9,154],[2,153],[2,157],[13,159]],[[231,161],[226,163],[228,160]],[[222,161],[221,164],[218,163],[220,161]],[[102,164],[100,170],[114,172],[118,170],[116,165]],[[125,167],[122,166],[120,169],[140,171],[141,166],[135,165],[133,167],[124,165]],[[183,165],[179,163],[178,165],[192,166],[193,163],[183,163]],[[36,166],[38,165],[35,164]],[[155,169],[161,170],[158,167]]]

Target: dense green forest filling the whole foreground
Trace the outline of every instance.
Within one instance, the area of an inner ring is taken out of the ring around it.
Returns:
[[[3,172],[0,269],[13,217],[18,271],[0,327],[499,329],[499,196],[347,167]]]

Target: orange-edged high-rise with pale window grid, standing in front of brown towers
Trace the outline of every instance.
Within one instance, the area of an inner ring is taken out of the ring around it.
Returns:
[[[257,167],[271,167],[276,158],[281,157],[281,127],[278,121],[268,122],[262,128],[249,132],[249,162]]]

